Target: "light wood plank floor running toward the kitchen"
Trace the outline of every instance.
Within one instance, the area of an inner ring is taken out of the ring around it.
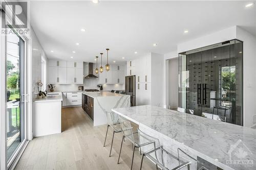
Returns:
[[[136,126],[136,125],[135,125]],[[29,142],[15,169],[130,169],[132,144],[125,140],[117,164],[122,134],[115,134],[109,157],[113,131],[109,131],[103,147],[106,125],[93,127],[81,107],[62,109],[62,133],[36,137]],[[139,169],[141,156],[135,152],[133,169]],[[142,169],[156,169],[148,159]]]

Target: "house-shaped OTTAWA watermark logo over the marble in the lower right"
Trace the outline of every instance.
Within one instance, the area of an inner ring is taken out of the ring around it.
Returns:
[[[226,160],[226,164],[232,167],[253,167],[253,154],[246,147],[241,139],[236,143],[230,145],[228,151],[229,160]]]

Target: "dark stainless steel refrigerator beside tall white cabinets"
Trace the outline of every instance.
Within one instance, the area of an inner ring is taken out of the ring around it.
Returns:
[[[136,106],[136,78],[135,76],[125,77],[125,92],[131,95],[131,106]]]

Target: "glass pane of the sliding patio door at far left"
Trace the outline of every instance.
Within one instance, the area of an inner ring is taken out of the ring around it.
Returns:
[[[6,35],[6,136],[7,160],[24,140],[24,41],[15,34]]]

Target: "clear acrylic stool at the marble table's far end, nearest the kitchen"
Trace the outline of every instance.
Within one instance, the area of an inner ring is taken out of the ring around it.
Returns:
[[[113,129],[113,137],[112,137],[111,148],[110,148],[110,156],[111,156],[114,135],[115,135],[115,133],[122,132],[122,130],[120,127],[118,114],[113,113],[113,112],[108,112],[108,111],[105,111],[105,114],[106,114],[106,119],[108,121],[108,128],[106,129],[106,136],[108,135],[109,127],[111,127]],[[105,136],[105,141],[104,141],[103,147],[105,147],[106,136]]]

